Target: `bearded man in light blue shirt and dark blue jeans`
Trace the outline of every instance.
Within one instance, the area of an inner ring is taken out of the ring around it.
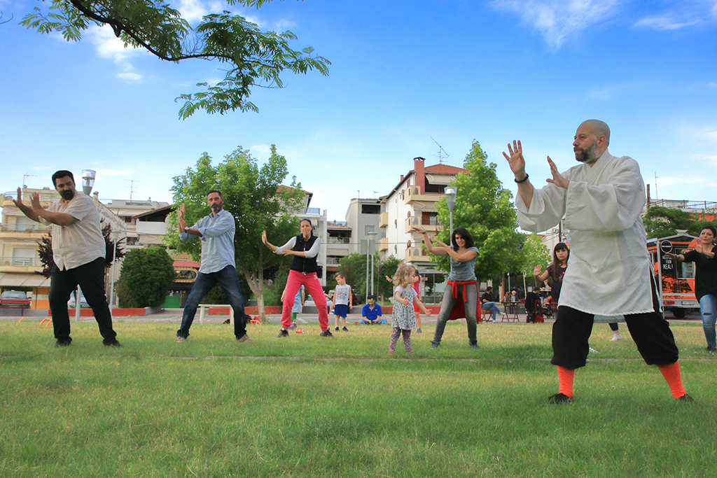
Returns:
[[[199,303],[212,290],[217,282],[227,295],[229,304],[234,310],[234,336],[239,342],[252,342],[247,335],[247,321],[244,318],[244,298],[239,287],[237,268],[234,265],[234,216],[224,211],[222,193],[212,189],[206,194],[206,204],[212,214],[199,219],[194,226],[187,227],[184,220],[184,204],[179,206],[179,239],[186,241],[199,237],[201,239],[201,265],[194,286],[184,305],[181,328],[177,330],[177,342],[184,342],[189,337],[191,322]]]

